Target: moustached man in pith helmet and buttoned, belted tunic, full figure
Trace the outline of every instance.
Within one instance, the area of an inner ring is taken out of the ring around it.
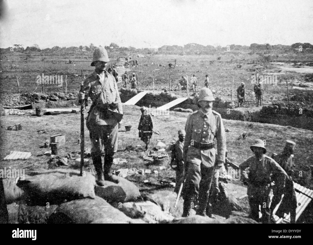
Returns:
[[[189,216],[191,206],[197,197],[199,197],[197,214],[210,215],[210,210],[206,212],[206,207],[214,175],[216,155],[214,139],[217,140],[218,150],[216,164],[222,166],[225,162],[225,130],[221,115],[212,110],[213,101],[211,90],[202,88],[198,99],[200,108],[187,118],[183,147],[186,173],[183,217]]]

